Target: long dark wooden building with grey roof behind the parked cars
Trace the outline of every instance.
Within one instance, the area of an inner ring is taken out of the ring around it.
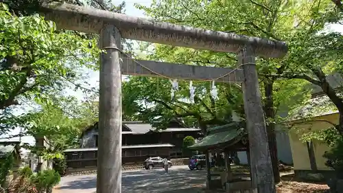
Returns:
[[[64,151],[68,168],[97,166],[98,123],[86,128],[81,135],[80,148]],[[177,121],[166,129],[156,130],[143,122],[123,122],[122,163],[142,163],[147,157],[180,158],[189,157],[182,153],[182,143],[186,136],[202,137],[198,128],[185,128]]]

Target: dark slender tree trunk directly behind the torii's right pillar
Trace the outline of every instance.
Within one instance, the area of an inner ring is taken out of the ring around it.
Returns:
[[[274,181],[275,183],[279,183],[281,179],[280,179],[280,172],[279,172],[279,159],[277,156],[278,154],[277,154],[277,146],[276,146],[275,124],[273,121],[268,122],[268,120],[274,120],[275,118],[273,84],[274,84],[274,80],[265,80],[263,82],[264,93],[265,93],[264,111],[265,111],[265,117],[267,120],[266,128],[267,128],[267,135],[268,135],[270,158],[272,159]]]

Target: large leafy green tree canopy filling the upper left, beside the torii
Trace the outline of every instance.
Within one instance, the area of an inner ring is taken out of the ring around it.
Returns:
[[[29,116],[14,116],[18,104],[51,104],[69,82],[80,78],[80,68],[97,63],[95,40],[58,32],[40,16],[14,16],[0,10],[0,133],[23,126]]]

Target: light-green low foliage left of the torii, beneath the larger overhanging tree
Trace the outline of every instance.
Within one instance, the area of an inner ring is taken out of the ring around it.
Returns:
[[[71,104],[71,106],[74,105]],[[75,114],[66,114],[58,105],[42,104],[40,109],[23,115],[29,119],[27,119],[22,135],[47,137],[45,142],[48,145],[48,148],[43,149],[31,146],[26,146],[26,148],[38,155],[43,155],[45,159],[64,159],[63,150],[80,146],[79,137],[82,128],[88,126],[88,117],[82,117],[78,112],[80,111],[76,111]]]

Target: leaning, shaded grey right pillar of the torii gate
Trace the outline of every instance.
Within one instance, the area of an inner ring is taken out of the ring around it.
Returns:
[[[244,70],[242,89],[249,137],[251,181],[259,193],[275,193],[255,56],[254,47],[248,45],[237,53],[238,65]]]

